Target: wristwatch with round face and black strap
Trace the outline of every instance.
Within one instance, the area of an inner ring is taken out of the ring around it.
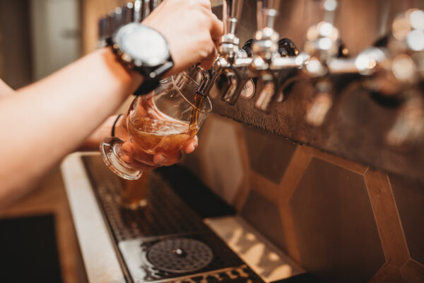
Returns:
[[[153,91],[163,75],[174,66],[165,37],[140,23],[122,26],[107,38],[106,44],[112,47],[126,69],[143,76],[143,82],[134,92],[136,96]]]

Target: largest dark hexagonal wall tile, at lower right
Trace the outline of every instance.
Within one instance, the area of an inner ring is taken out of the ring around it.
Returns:
[[[312,158],[290,207],[302,265],[326,282],[368,282],[385,262],[362,175]]]

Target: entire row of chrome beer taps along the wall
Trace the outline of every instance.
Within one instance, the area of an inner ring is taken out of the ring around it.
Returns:
[[[158,4],[160,0],[136,0],[115,9],[99,21],[99,42],[124,23],[143,21]],[[257,1],[257,32],[241,48],[237,24],[243,0],[224,0],[224,35],[218,58],[211,69],[200,69],[198,92],[207,96],[216,81],[225,78],[221,98],[234,105],[245,85],[256,78],[254,105],[270,112],[288,96],[288,86],[307,80],[315,94],[305,120],[319,127],[336,96],[356,83],[384,103],[400,105],[394,126],[387,133],[390,145],[416,141],[424,135],[424,11],[411,8],[401,13],[391,24],[391,33],[351,57],[334,25],[338,4],[337,0],[322,0],[324,18],[307,30],[303,51],[299,52],[291,40],[281,39],[274,29],[280,0]]]

